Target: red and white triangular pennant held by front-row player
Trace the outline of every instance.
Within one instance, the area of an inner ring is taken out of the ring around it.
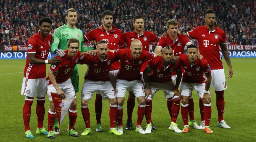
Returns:
[[[51,95],[52,95],[52,101],[55,107],[56,115],[57,115],[59,124],[61,125],[62,121],[64,120],[64,117],[68,112],[68,109],[72,101],[75,98],[75,95],[65,94],[65,99],[60,98],[60,96],[57,93],[51,92]]]

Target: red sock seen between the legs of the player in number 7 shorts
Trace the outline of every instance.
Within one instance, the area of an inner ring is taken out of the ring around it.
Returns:
[[[102,97],[100,94],[96,94],[96,99],[94,102],[94,107],[95,107],[95,116],[96,116],[96,124],[101,124],[101,113],[102,113]]]

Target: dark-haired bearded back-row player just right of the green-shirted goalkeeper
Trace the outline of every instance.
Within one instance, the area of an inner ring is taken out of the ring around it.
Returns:
[[[108,49],[116,50],[118,49],[118,45],[120,47],[124,46],[124,39],[122,35],[122,31],[117,29],[115,26],[112,26],[113,23],[113,14],[111,11],[104,11],[100,14],[101,22],[103,25],[100,28],[96,28],[89,33],[84,35],[84,42],[95,40],[96,43],[98,41],[104,40],[108,43]],[[120,62],[116,61],[112,64],[109,71],[110,82],[114,89],[116,88],[116,74],[119,70]],[[96,115],[96,131],[101,132],[101,112],[102,112],[102,97],[99,92],[96,92],[95,99],[95,115]]]

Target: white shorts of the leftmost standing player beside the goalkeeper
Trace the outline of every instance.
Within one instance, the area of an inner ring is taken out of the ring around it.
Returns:
[[[23,77],[21,94],[28,97],[45,97],[46,96],[46,77],[37,79],[28,79]]]

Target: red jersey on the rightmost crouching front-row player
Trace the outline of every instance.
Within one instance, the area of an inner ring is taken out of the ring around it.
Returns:
[[[206,77],[204,73],[211,74],[211,67],[205,59],[198,60],[197,58],[196,63],[192,65],[188,61],[188,56],[183,54],[180,55],[179,61],[185,69],[181,82],[205,83]]]

